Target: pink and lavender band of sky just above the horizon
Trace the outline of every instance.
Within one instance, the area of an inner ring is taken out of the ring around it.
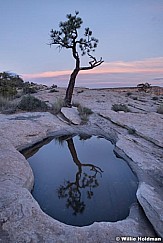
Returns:
[[[24,74],[24,80],[58,86],[67,86],[72,70],[47,71]],[[163,86],[163,57],[147,58],[139,61],[104,62],[101,66],[81,71],[76,86],[117,87],[135,86],[140,82]]]

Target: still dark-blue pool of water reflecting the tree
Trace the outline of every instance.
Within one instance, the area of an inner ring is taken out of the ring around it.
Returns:
[[[115,222],[136,202],[137,178],[101,137],[54,138],[34,154],[24,153],[42,210],[68,225]]]

